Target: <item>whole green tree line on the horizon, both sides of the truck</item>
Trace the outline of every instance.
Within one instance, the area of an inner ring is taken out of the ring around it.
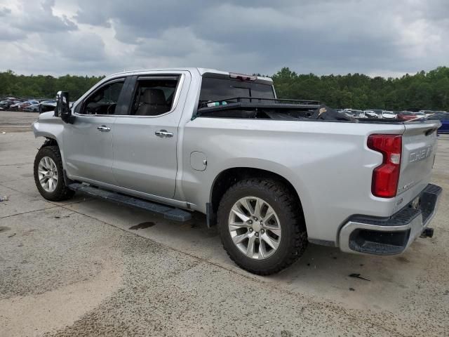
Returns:
[[[18,75],[0,72],[0,96],[54,98],[59,90],[76,100],[104,77]],[[399,78],[364,74],[297,74],[288,67],[272,76],[279,98],[320,100],[330,107],[387,110],[449,110],[449,68]]]

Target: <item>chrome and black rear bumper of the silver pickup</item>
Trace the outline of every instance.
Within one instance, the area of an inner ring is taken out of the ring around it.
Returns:
[[[429,184],[413,201],[387,218],[351,216],[340,230],[340,249],[347,253],[402,253],[424,231],[436,213],[441,187]]]

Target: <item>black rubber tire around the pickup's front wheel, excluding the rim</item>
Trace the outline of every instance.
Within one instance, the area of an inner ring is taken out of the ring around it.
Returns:
[[[47,192],[39,183],[38,167],[39,161],[43,157],[50,157],[55,161],[56,169],[58,171],[58,183],[53,192]],[[62,159],[58,146],[44,146],[41,147],[39,152],[36,154],[34,159],[34,183],[36,183],[37,190],[41,193],[41,196],[50,201],[62,201],[73,197],[74,191],[70,190],[69,187],[65,185],[63,169],[62,169]]]

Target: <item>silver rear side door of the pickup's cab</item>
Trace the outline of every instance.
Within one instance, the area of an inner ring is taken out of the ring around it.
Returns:
[[[154,72],[135,78],[128,114],[114,124],[112,171],[120,187],[173,198],[178,125],[188,91],[188,72]]]

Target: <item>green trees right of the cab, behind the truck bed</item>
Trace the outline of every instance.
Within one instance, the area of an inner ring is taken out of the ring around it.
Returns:
[[[387,110],[449,110],[449,68],[399,78],[364,74],[297,74],[282,68],[272,76],[279,98],[321,100],[330,107]]]

